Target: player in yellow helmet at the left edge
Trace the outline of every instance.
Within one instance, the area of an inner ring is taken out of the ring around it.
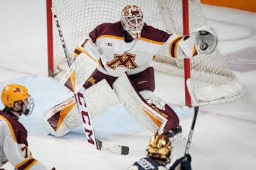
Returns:
[[[32,157],[27,130],[18,121],[23,114],[31,115],[34,108],[28,89],[20,84],[9,84],[1,92],[1,101],[5,108],[0,111],[0,169],[10,162],[17,170],[46,170],[46,166]]]

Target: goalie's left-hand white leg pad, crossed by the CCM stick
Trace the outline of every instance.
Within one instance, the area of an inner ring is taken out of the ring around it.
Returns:
[[[82,94],[85,96],[87,110],[92,118],[119,103],[117,95],[105,79],[82,91]],[[55,137],[62,137],[82,124],[75,97],[69,98],[67,101],[51,108],[50,111],[43,115],[43,119],[46,120],[50,134]],[[49,120],[54,120],[51,124],[57,128],[53,128],[48,122]]]

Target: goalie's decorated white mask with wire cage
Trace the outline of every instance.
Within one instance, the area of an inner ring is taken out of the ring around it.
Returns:
[[[121,13],[121,23],[132,38],[140,38],[144,26],[142,10],[135,5],[125,6]]]

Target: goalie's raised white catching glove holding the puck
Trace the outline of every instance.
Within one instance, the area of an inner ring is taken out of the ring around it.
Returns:
[[[210,54],[215,51],[218,45],[218,35],[210,26],[202,26],[193,30],[196,41],[196,50],[199,53]]]

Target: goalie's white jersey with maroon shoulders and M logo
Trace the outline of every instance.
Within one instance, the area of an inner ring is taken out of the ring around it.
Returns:
[[[75,49],[75,56],[85,53],[100,63],[97,68],[100,72],[113,77],[119,77],[124,72],[129,75],[142,72],[155,59],[156,52],[182,59],[186,55],[180,44],[189,41],[187,36],[170,35],[145,24],[141,38],[125,42],[120,21],[97,26],[89,37]],[[189,56],[196,55],[193,43],[186,51],[190,51]]]

